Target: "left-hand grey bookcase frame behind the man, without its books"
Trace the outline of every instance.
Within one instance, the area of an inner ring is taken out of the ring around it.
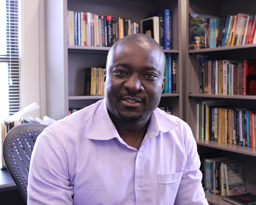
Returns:
[[[98,15],[120,16],[139,23],[148,13],[170,9],[173,13],[173,48],[164,50],[176,59],[176,94],[163,94],[159,106],[171,107],[182,118],[181,0],[45,0],[47,115],[61,119],[69,108],[83,108],[103,96],[83,96],[84,68],[106,63],[109,47],[67,45],[67,9]]]

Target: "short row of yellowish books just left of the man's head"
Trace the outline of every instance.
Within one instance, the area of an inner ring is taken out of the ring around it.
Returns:
[[[103,68],[85,68],[84,95],[104,95]]]

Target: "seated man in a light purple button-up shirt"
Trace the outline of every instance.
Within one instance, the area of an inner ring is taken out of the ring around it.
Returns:
[[[129,35],[109,51],[105,99],[49,126],[34,147],[28,204],[206,205],[189,126],[157,109],[165,55]]]

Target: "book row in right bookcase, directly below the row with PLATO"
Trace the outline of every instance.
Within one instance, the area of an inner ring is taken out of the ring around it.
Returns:
[[[256,147],[256,112],[225,100],[198,100],[196,138]]]

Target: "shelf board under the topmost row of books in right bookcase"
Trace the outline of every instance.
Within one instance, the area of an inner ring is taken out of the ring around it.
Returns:
[[[241,51],[245,50],[255,52],[256,44],[246,44],[239,46],[228,46],[228,47],[218,47],[218,48],[203,48],[199,50],[190,50],[189,53],[203,53],[203,52],[219,52],[219,51]]]

